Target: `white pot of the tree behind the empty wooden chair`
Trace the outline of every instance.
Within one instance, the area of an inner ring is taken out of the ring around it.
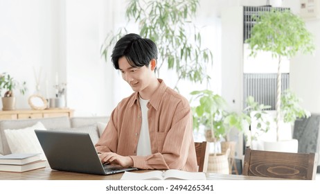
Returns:
[[[264,141],[264,150],[274,152],[298,152],[298,140]]]

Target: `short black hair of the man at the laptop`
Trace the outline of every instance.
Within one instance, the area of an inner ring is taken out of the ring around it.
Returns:
[[[111,57],[115,69],[119,69],[118,60],[123,56],[132,67],[149,67],[152,59],[157,60],[158,49],[151,39],[130,33],[121,37],[114,46]]]

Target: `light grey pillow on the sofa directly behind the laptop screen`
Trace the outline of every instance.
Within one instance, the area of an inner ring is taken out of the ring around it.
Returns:
[[[73,127],[73,128],[59,128],[59,129],[50,129],[54,131],[63,131],[63,132],[82,132],[89,134],[92,143],[96,145],[99,140],[99,132],[96,124],[94,125],[86,125],[82,127]]]

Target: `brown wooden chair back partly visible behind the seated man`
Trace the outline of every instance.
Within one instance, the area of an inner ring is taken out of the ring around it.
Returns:
[[[206,173],[208,168],[209,148],[206,141],[195,142],[195,154],[197,155],[198,171]]]

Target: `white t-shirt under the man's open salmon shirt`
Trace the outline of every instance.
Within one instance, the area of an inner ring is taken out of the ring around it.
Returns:
[[[141,130],[139,135],[139,141],[136,148],[137,156],[148,156],[151,155],[151,145],[150,145],[150,134],[149,134],[149,126],[148,126],[148,104],[149,100],[143,100],[141,97],[139,98],[139,103],[141,107]]]

